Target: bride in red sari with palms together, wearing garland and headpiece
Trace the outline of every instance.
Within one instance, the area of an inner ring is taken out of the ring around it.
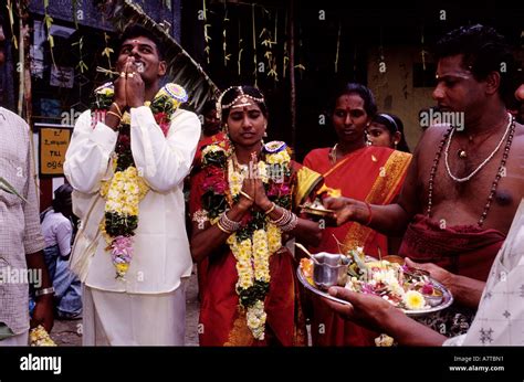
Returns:
[[[268,110],[251,86],[219,100],[229,142],[202,149],[191,178],[191,255],[209,259],[200,307],[201,346],[306,343],[291,236],[316,245],[317,223],[292,212],[322,177],[291,161],[284,142],[263,145]]]

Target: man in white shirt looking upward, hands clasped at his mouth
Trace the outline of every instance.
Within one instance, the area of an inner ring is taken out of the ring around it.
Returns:
[[[82,221],[71,266],[85,285],[83,344],[181,346],[192,267],[182,180],[195,156],[200,123],[193,113],[178,108],[157,124],[156,112],[144,105],[154,100],[166,73],[160,42],[139,25],[126,29],[120,41],[113,103],[102,117],[93,110],[81,115],[64,163],[74,188],[73,209]],[[109,232],[112,224],[107,187],[119,171],[115,158],[126,118],[133,166],[146,191],[138,203],[138,223],[126,235],[132,250],[115,257],[115,241],[107,242],[102,231],[105,224]]]

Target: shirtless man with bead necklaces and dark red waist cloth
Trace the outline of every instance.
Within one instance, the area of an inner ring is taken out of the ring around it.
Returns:
[[[504,104],[514,92],[513,59],[502,36],[481,25],[450,32],[437,59],[433,98],[441,112],[463,113],[463,129],[425,131],[396,204],[369,210],[360,201],[327,199],[325,205],[337,210],[339,224],[370,221],[387,235],[405,233],[402,256],[485,282],[524,195],[524,127]],[[470,284],[453,280],[447,286],[457,299],[476,306]]]

